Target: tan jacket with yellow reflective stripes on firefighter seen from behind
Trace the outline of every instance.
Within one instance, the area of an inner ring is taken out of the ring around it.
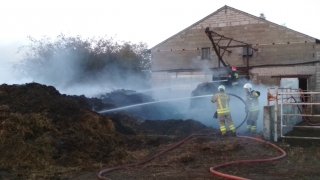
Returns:
[[[218,114],[230,113],[229,101],[229,95],[224,92],[218,92],[211,99],[211,102],[216,103]]]

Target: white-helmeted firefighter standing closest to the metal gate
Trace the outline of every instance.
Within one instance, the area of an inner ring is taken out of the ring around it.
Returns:
[[[260,112],[259,96],[260,92],[252,89],[250,83],[246,83],[243,88],[246,91],[246,113],[247,116],[247,131],[245,134],[254,135],[257,131],[257,120]],[[248,108],[248,109],[247,109]]]

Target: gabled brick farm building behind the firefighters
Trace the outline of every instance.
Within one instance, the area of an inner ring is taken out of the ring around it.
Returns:
[[[320,90],[319,39],[229,6],[157,44],[151,55],[153,87],[214,81],[227,64],[256,84],[294,78],[301,89]]]

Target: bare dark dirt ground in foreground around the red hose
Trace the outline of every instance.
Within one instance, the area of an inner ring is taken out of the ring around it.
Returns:
[[[320,177],[317,171],[320,159],[319,148],[288,147],[282,143],[278,145],[287,151],[284,159],[232,165],[219,171],[248,179],[318,179]],[[318,153],[314,154],[315,152]],[[209,168],[229,161],[270,158],[280,154],[269,145],[248,139],[198,137],[150,163],[109,172],[105,177],[112,180],[225,179],[211,174]],[[314,157],[310,158],[310,154]],[[96,179],[94,177],[96,174],[97,172],[82,173],[72,179],[93,180]]]

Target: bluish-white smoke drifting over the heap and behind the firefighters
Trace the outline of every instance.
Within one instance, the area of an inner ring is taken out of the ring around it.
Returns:
[[[213,118],[216,111],[214,103],[211,103],[211,98],[214,94],[207,94],[198,97],[199,106],[190,108],[192,101],[192,91],[197,86],[203,83],[200,79],[203,76],[181,75],[178,77],[170,77],[170,81],[163,86],[151,87],[151,82],[142,78],[141,76],[130,74],[123,77],[123,74],[128,74],[128,71],[119,69],[116,66],[111,66],[105,69],[94,77],[87,77],[86,74],[81,74],[82,64],[77,63],[77,59],[82,58],[79,54],[66,55],[61,53],[58,57],[48,61],[46,68],[33,69],[32,74],[24,74],[12,66],[17,63],[17,59],[21,58],[18,55],[12,56],[13,53],[8,54],[8,50],[2,49],[0,61],[0,83],[6,84],[24,84],[30,82],[37,82],[45,85],[54,86],[60,93],[68,95],[85,95],[86,97],[99,97],[102,94],[112,92],[117,89],[130,89],[136,92],[150,95],[156,101],[166,102],[170,106],[170,111],[174,112],[172,119],[194,119],[207,126],[219,128],[217,119]],[[10,46],[5,46],[7,49]],[[12,51],[11,51],[12,52]],[[203,67],[205,70],[206,66]],[[145,72],[150,76],[150,72]],[[112,74],[112,77],[110,76]],[[74,77],[78,78],[76,81]],[[212,75],[208,76],[208,80]],[[288,84],[283,82],[284,84]],[[219,83],[217,83],[219,84]],[[244,84],[244,82],[240,82]],[[254,84],[254,83],[252,83]],[[263,129],[263,106],[267,105],[267,89],[268,86],[259,85],[254,86],[254,90],[260,91],[260,114],[257,121],[257,130]],[[242,99],[245,99],[245,91],[243,87],[237,89],[226,89],[226,93],[235,94]],[[168,101],[166,101],[168,100]],[[271,102],[272,104],[273,102]],[[143,105],[148,106],[148,105]],[[141,108],[143,108],[141,106]],[[231,96],[230,101],[231,115],[236,126],[240,125],[245,120],[245,105],[237,97]],[[161,113],[161,111],[159,111]],[[157,116],[157,115],[155,115]],[[159,119],[162,116],[158,115]],[[156,118],[155,118],[156,119]],[[246,128],[246,123],[239,129],[240,131]]]

